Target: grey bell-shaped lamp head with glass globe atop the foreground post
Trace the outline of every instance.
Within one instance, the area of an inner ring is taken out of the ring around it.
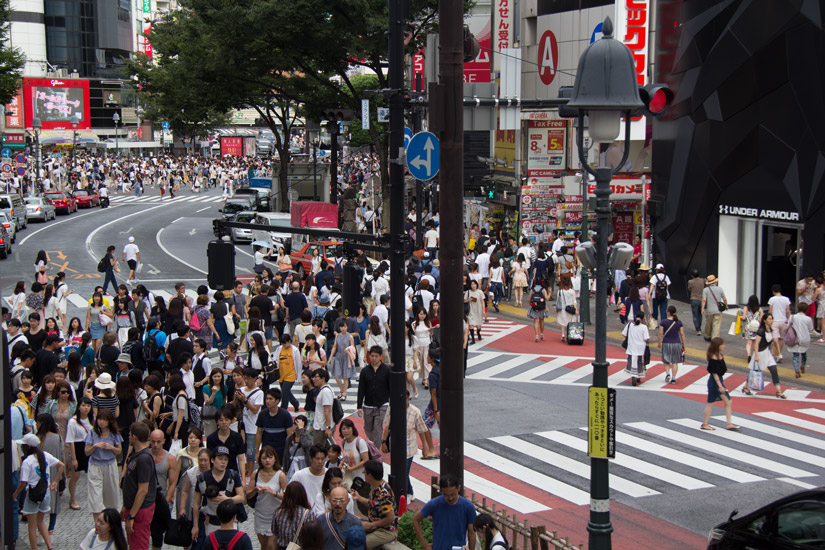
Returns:
[[[619,136],[622,112],[644,106],[636,83],[636,62],[630,49],[613,39],[610,18],[602,25],[604,36],[590,44],[579,58],[576,82],[567,107],[590,117],[594,141],[611,142]]]

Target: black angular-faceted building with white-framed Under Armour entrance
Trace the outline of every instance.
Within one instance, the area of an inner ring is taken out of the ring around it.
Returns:
[[[692,269],[728,301],[823,270],[825,4],[659,0],[655,79],[674,90],[655,122],[655,257],[684,297]]]

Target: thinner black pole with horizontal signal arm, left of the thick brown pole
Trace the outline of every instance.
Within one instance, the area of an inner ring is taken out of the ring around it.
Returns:
[[[404,262],[404,0],[389,0],[390,105],[390,486],[407,493],[407,378],[405,372]]]

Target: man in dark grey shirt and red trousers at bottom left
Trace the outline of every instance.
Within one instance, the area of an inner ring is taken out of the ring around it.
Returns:
[[[129,548],[148,548],[157,493],[155,461],[149,450],[149,427],[143,422],[134,422],[129,428],[129,443],[132,455],[123,475],[120,515],[126,522]]]

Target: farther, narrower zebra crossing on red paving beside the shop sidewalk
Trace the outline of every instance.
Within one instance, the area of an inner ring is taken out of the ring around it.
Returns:
[[[607,361],[609,363],[608,386],[629,387],[630,375],[624,371],[627,363],[626,359],[608,359]],[[666,382],[666,375],[667,373],[664,370],[662,362],[652,358],[643,383],[633,388],[633,391],[667,391],[670,393],[693,395],[707,394],[708,374],[704,366],[692,364],[679,365],[675,384]],[[592,359],[575,355],[507,353],[487,349],[476,352],[471,348],[467,360],[467,378],[471,380],[586,387],[592,383],[592,377]],[[783,392],[789,401],[825,403],[825,394],[793,388],[787,385],[789,380],[783,380],[782,382]],[[725,376],[725,386],[732,394],[744,397],[741,390],[746,384],[747,375],[745,374],[728,373]],[[748,399],[776,400],[774,385],[766,382],[762,392],[756,393]],[[825,413],[821,414],[825,416]],[[774,418],[771,419],[774,420]],[[809,425],[801,420],[797,421],[795,425],[801,428],[809,428]]]

